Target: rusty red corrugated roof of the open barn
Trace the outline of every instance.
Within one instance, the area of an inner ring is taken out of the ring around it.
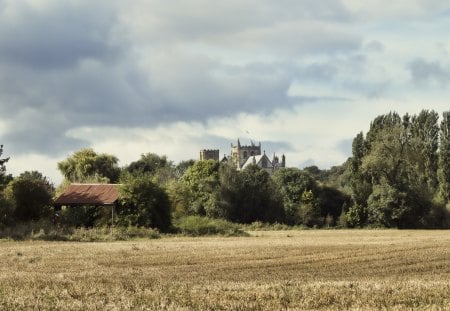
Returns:
[[[117,184],[71,184],[55,205],[111,205],[119,198]]]

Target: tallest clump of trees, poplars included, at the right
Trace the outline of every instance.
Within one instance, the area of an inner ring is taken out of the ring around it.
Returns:
[[[354,203],[346,214],[350,226],[434,226],[433,198],[441,184],[438,133],[437,113],[423,110],[412,117],[379,116],[366,138],[356,136],[350,159]],[[441,134],[441,148],[442,142]]]

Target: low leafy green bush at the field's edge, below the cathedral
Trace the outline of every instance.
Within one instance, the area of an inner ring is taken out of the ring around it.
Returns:
[[[184,235],[225,235],[244,236],[246,233],[239,225],[223,219],[213,219],[209,217],[187,216],[180,218],[176,227]]]

